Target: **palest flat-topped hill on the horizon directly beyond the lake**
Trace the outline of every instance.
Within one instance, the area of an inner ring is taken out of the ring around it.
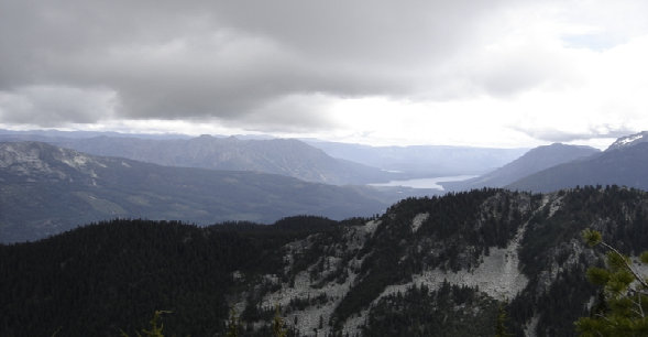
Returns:
[[[308,140],[331,156],[373,167],[398,171],[409,176],[483,174],[516,160],[528,149],[465,146],[369,146]]]

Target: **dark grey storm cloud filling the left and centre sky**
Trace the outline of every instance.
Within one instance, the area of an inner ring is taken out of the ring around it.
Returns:
[[[498,4],[0,0],[0,122],[321,127],[310,96],[446,90],[435,77]]]

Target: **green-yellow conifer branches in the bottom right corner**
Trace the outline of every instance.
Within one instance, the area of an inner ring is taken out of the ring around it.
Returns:
[[[590,317],[575,322],[581,336],[648,336],[648,280],[639,274],[630,259],[603,241],[598,231],[585,229],[590,247],[607,250],[606,268],[590,268],[590,282],[603,287]],[[641,253],[648,263],[648,252]]]

